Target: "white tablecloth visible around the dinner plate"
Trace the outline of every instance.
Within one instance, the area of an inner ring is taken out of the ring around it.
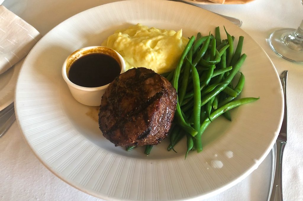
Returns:
[[[2,4],[45,35],[72,15],[109,2],[114,0],[5,0]],[[266,40],[276,29],[297,28],[303,19],[303,6],[299,0],[199,6],[241,19],[241,28],[266,51],[278,73],[288,70],[288,142],[283,157],[283,195],[284,200],[303,200],[303,65],[279,58]],[[100,200],[69,186],[48,171],[25,142],[17,122],[0,138],[0,154],[0,200]],[[266,200],[270,170],[269,154],[247,178],[206,200]]]

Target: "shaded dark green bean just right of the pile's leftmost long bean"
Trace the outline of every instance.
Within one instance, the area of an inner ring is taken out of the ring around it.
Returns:
[[[190,74],[190,70],[191,70],[191,66],[190,66],[191,61],[192,61],[192,48],[190,48],[190,50],[188,52],[188,58],[187,58],[187,61],[185,63],[185,67],[184,67],[182,84],[181,84],[180,91],[178,93],[179,104],[182,104],[183,98],[185,96],[186,89],[188,86],[188,78],[189,78],[189,74]]]

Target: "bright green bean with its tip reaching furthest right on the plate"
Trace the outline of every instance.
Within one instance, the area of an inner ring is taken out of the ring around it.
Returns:
[[[241,98],[241,99],[238,99],[235,101],[231,101],[230,103],[223,105],[222,107],[218,108],[213,113],[211,113],[210,119],[215,120],[218,116],[220,116],[224,112],[231,110],[232,108],[235,108],[237,106],[257,101],[259,98],[249,97],[249,98]],[[205,129],[208,127],[208,125],[210,123],[211,123],[211,121],[208,118],[206,118],[203,121],[203,123],[201,124],[201,127],[200,127],[201,133],[203,133],[205,131]]]

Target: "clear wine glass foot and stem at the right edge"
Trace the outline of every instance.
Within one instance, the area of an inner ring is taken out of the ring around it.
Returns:
[[[301,0],[303,5],[303,0]],[[283,28],[268,38],[271,49],[288,61],[303,63],[303,20],[297,29]]]

